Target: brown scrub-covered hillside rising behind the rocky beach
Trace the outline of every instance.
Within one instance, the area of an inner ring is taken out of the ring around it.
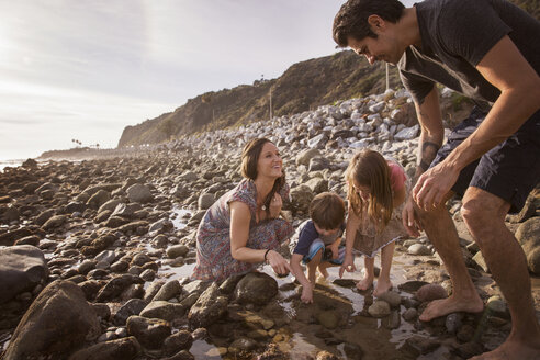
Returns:
[[[513,2],[540,19],[540,0]],[[389,68],[390,88],[395,88],[401,85],[397,70]],[[280,116],[384,90],[384,64],[370,66],[363,57],[344,50],[294,64],[278,79],[256,80],[190,99],[173,112],[125,127],[119,147],[157,144],[184,134],[269,119],[270,93],[272,114]],[[453,105],[457,102],[466,106],[462,99],[454,99]]]

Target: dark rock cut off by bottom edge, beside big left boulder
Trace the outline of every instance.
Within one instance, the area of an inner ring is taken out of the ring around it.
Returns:
[[[132,360],[140,353],[140,344],[133,336],[99,342],[71,355],[69,360]]]

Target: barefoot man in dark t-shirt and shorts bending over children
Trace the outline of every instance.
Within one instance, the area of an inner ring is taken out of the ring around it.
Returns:
[[[428,322],[481,312],[445,203],[463,196],[461,214],[510,310],[506,341],[479,359],[539,359],[540,328],[524,251],[504,221],[540,180],[540,23],[505,0],[349,0],[334,20],[336,43],[370,64],[397,64],[421,126],[417,182],[404,225],[424,228],[451,277],[453,292],[421,314]],[[477,102],[441,147],[436,83]]]

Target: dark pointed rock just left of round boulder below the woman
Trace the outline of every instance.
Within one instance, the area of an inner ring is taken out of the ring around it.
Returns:
[[[188,314],[190,328],[207,327],[221,319],[227,312],[227,299],[220,296],[217,283],[212,283],[191,306]]]

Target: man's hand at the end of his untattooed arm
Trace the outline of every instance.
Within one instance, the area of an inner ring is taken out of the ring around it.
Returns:
[[[460,171],[448,166],[446,161],[424,172],[413,189],[413,199],[418,207],[430,211],[441,204],[445,195],[450,192],[458,180],[459,175]]]

